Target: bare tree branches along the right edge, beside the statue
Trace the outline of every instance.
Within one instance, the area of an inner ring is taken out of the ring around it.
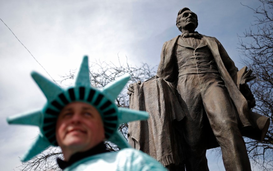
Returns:
[[[248,156],[252,164],[261,170],[273,170],[273,1],[259,0],[261,5],[250,8],[255,23],[239,37],[242,63],[253,70],[257,79],[250,83],[256,99],[255,112],[271,119],[264,142],[246,139]],[[247,43],[247,42],[250,43]]]

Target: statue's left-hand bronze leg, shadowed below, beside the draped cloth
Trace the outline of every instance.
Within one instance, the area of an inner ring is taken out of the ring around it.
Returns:
[[[185,166],[187,171],[206,171],[206,132],[204,120],[206,113],[200,93],[197,74],[182,75],[178,78],[177,90],[180,94],[180,103],[185,103],[185,117],[182,121],[184,146],[186,151]]]

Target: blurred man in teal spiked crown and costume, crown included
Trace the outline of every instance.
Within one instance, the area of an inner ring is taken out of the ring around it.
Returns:
[[[21,158],[30,160],[48,146],[60,146],[64,160],[57,162],[65,171],[148,171],[165,170],[149,155],[130,147],[118,125],[147,119],[143,111],[117,108],[114,100],[130,79],[124,75],[102,91],[90,85],[87,56],[82,61],[74,87],[62,89],[33,72],[48,102],[42,110],[7,118],[9,124],[30,124],[40,128],[35,143]],[[106,150],[104,141],[111,141],[122,149]]]

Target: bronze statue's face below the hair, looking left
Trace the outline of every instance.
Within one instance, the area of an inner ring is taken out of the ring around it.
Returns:
[[[179,28],[180,26],[182,30],[195,30],[197,26],[195,13],[187,10],[180,14],[180,20],[177,23],[177,27]]]

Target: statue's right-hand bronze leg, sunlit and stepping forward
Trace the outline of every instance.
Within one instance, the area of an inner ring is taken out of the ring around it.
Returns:
[[[225,169],[251,170],[245,142],[238,128],[236,109],[220,75],[207,74],[200,81],[204,108],[221,147]]]

